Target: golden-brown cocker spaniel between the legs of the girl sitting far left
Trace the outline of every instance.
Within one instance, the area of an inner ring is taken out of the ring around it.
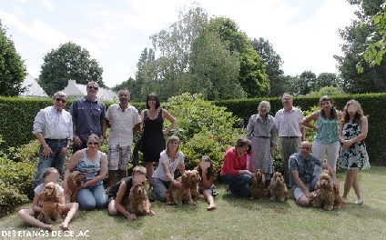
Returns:
[[[57,185],[50,182],[46,184],[43,194],[39,197],[39,203],[42,205],[42,211],[37,216],[39,221],[47,225],[52,225],[57,219],[60,218],[60,212],[57,209],[59,204],[59,193]],[[56,207],[52,207],[52,204],[56,204]]]

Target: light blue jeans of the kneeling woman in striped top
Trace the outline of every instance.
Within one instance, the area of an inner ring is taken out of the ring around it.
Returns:
[[[80,189],[76,194],[76,201],[81,209],[94,210],[96,207],[105,207],[108,203],[108,196],[103,184],[92,185]]]

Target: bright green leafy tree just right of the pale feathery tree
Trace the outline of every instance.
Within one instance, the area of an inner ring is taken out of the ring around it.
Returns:
[[[208,29],[218,33],[219,38],[229,45],[231,53],[238,52],[240,59],[239,83],[248,97],[269,95],[269,78],[265,65],[253,49],[247,35],[239,31],[238,25],[225,17],[212,18]]]

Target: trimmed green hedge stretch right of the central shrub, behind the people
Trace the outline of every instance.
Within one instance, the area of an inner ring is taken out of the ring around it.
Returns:
[[[386,93],[382,94],[364,94],[364,95],[335,95],[332,97],[339,110],[342,110],[344,105],[350,99],[356,99],[361,103],[364,114],[369,116],[369,134],[365,140],[367,150],[370,155],[371,164],[386,165],[384,145],[382,144],[383,137],[386,135]],[[254,115],[258,111],[259,102],[268,100],[271,109],[270,114],[275,113],[282,108],[281,100],[277,98],[252,98],[228,101],[214,101],[215,105],[227,107],[234,115],[243,119],[244,125],[248,124],[250,115]],[[294,105],[299,106],[303,112],[309,110],[312,106],[318,105],[319,98],[316,97],[294,97]]]

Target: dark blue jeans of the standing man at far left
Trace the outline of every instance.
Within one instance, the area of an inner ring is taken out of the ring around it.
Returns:
[[[52,154],[50,154],[48,157],[44,157],[43,145],[40,145],[39,162],[36,165],[35,186],[40,185],[42,183],[41,176],[48,167],[51,167],[51,166],[55,167],[59,172],[59,175],[63,175],[65,172],[64,164],[65,164],[66,155],[59,155],[59,154],[60,154],[60,150],[62,150],[63,147],[66,147],[67,145],[66,141],[62,141],[62,142],[46,141],[46,144],[51,148]]]

